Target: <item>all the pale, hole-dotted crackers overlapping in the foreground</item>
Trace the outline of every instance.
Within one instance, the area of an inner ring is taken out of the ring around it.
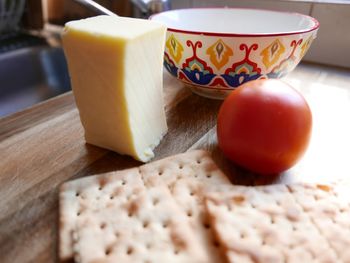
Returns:
[[[62,260],[350,262],[350,184],[234,186],[208,152],[65,183]]]

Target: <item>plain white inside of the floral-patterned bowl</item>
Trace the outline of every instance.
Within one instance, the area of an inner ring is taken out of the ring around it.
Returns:
[[[154,15],[152,20],[170,30],[245,35],[301,33],[318,27],[318,22],[306,15],[239,8],[172,10]]]

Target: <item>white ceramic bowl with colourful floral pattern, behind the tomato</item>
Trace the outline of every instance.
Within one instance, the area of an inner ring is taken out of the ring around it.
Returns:
[[[182,9],[150,19],[168,27],[165,68],[193,92],[216,99],[244,82],[292,71],[319,28],[306,15],[257,9]]]

